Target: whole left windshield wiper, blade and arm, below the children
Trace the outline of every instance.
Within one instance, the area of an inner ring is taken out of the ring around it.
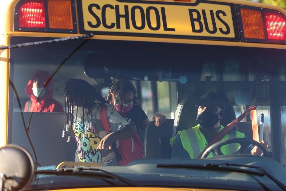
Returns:
[[[100,171],[100,172],[103,172],[104,174],[102,173],[99,173],[99,172],[94,172],[94,171]],[[119,175],[116,175],[116,174],[113,174],[111,172],[108,172],[106,170],[102,170],[102,169],[97,169],[97,168],[82,168],[82,167],[79,167],[79,168],[73,168],[73,169],[61,169],[61,170],[37,170],[35,171],[36,174],[65,174],[65,175],[89,175],[89,176],[103,176],[105,178],[114,178],[116,180],[119,180],[121,182],[124,182],[125,184],[128,184],[129,186],[132,186],[132,187],[141,187],[141,185],[139,185],[138,183],[136,182],[133,182],[127,178],[124,178],[122,176],[119,176]]]

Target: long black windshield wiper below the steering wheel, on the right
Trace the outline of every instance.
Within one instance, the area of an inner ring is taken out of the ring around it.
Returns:
[[[247,169],[238,169],[232,167],[247,167],[254,168],[259,170],[259,172],[247,170]],[[277,186],[279,186],[282,190],[286,191],[286,186],[277,180],[274,176],[269,174],[266,170],[261,167],[251,166],[251,165],[242,165],[242,164],[231,164],[231,163],[222,163],[222,164],[157,164],[157,167],[163,168],[192,168],[192,169],[207,169],[207,170],[218,170],[218,171],[226,171],[226,172],[239,172],[246,173],[252,175],[266,175],[270,178]]]

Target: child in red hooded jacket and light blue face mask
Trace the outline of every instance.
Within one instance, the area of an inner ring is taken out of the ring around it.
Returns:
[[[26,102],[24,111],[33,112],[63,112],[63,106],[52,98],[53,82],[50,81],[36,101],[42,87],[51,75],[43,70],[35,72],[26,86],[26,94],[30,100]]]

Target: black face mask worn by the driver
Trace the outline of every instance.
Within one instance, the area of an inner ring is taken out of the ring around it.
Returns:
[[[203,113],[198,114],[197,122],[203,128],[209,129],[220,120],[220,113],[219,114],[212,114],[210,112],[204,111]]]

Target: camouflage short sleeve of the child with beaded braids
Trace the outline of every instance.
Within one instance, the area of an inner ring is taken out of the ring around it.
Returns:
[[[121,117],[121,115],[119,115],[119,113],[117,113],[111,107],[107,108],[106,115],[110,130],[113,132],[129,124],[127,121],[125,121],[125,119]]]

